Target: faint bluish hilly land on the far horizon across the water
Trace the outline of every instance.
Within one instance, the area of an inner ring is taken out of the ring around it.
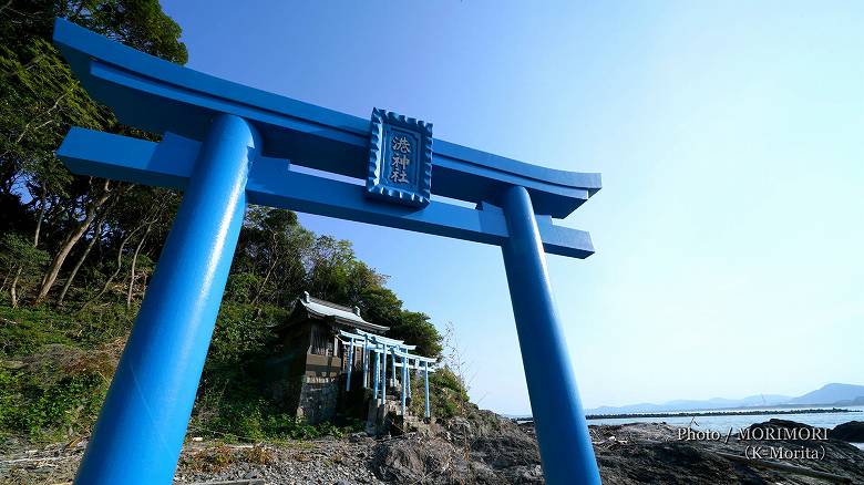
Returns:
[[[589,416],[658,417],[668,416],[670,415],[669,413],[673,412],[686,412],[689,416],[693,415],[693,411],[711,411],[719,414],[729,414],[732,412],[738,412],[740,414],[760,414],[759,410],[764,407],[788,407],[789,411],[774,411],[772,414],[800,414],[804,411],[813,411],[802,410],[802,407],[847,407],[860,405],[864,405],[864,385],[831,383],[796,398],[780,394],[758,394],[737,400],[723,398],[713,398],[701,401],[676,400],[664,404],[640,403],[625,406],[599,406],[586,410],[586,413]],[[829,410],[829,412],[831,411]],[[654,414],[658,414],[658,416],[655,416]]]

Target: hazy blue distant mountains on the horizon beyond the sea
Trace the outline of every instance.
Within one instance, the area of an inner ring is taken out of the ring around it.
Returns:
[[[676,400],[664,404],[640,403],[625,406],[599,406],[587,410],[588,414],[629,414],[677,411],[724,410],[759,406],[798,405],[862,405],[864,385],[826,384],[822,388],[792,398],[780,394],[757,394],[743,399],[713,398],[709,400]]]

